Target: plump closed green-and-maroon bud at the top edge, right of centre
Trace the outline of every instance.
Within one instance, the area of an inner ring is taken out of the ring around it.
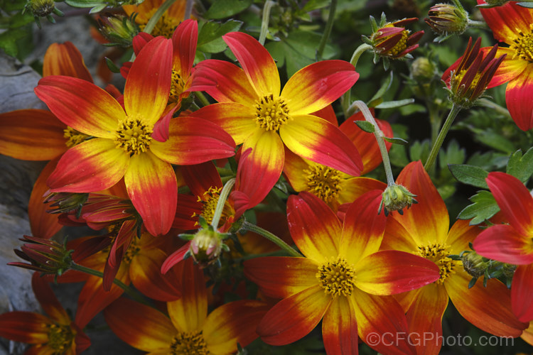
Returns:
[[[451,4],[436,4],[428,11],[424,21],[439,35],[463,33],[468,26],[468,13]]]

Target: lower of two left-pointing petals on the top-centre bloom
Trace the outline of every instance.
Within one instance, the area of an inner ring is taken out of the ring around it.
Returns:
[[[194,111],[190,116],[211,121],[230,134],[236,144],[243,143],[257,129],[253,107],[233,102],[210,104]]]

